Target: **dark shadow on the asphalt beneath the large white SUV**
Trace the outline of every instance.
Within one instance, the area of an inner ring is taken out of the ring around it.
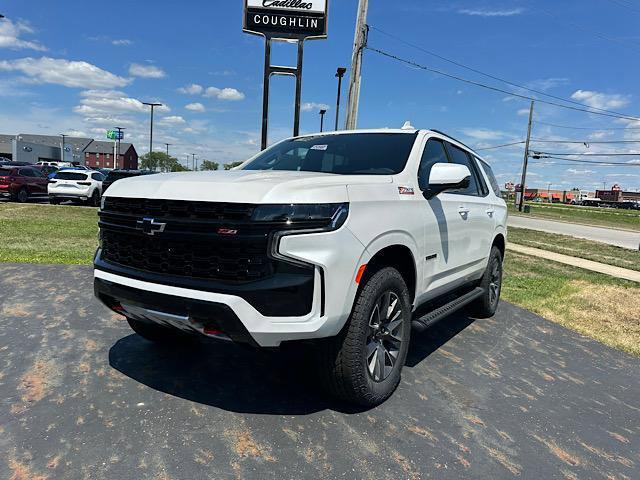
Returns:
[[[453,316],[426,332],[414,332],[407,366],[418,365],[472,322]],[[311,347],[298,347],[260,351],[203,340],[165,348],[129,335],[111,347],[109,364],[154,390],[236,413],[365,411],[327,398],[316,381]]]

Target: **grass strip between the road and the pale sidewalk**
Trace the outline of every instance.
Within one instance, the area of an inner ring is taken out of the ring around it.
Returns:
[[[509,227],[509,242],[640,271],[640,251],[555,233]]]

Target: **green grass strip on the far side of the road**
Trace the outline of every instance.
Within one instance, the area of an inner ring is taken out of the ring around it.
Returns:
[[[636,230],[640,232],[639,210],[618,210],[614,208],[591,208],[542,203],[529,203],[528,205],[531,206],[531,213],[520,214],[512,204],[509,204],[509,214],[547,220],[560,220],[569,223],[582,223],[599,227]]]

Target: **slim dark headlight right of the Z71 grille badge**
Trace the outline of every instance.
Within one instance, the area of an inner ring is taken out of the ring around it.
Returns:
[[[261,205],[254,210],[251,220],[302,229],[337,230],[344,225],[348,215],[348,203]]]

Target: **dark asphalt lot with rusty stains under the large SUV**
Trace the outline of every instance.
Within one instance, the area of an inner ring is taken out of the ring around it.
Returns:
[[[162,350],[88,267],[0,266],[0,478],[640,478],[640,360],[508,304],[416,335],[381,407],[295,352]]]

